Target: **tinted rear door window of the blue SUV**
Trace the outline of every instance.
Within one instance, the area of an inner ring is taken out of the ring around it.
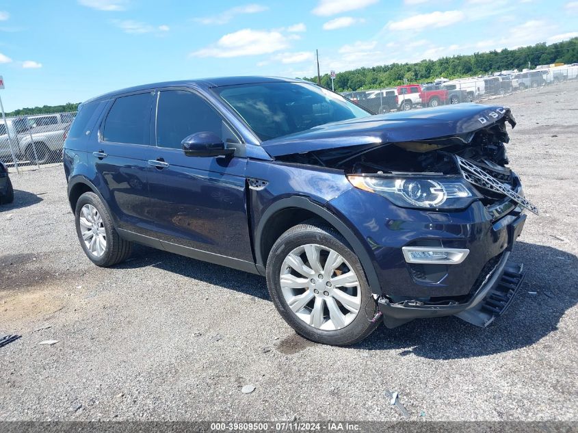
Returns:
[[[116,99],[105,120],[103,141],[148,144],[150,101],[150,93],[133,94]]]

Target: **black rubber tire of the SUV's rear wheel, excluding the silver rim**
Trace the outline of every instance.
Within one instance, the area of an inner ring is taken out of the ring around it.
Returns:
[[[81,234],[80,230],[80,212],[84,205],[92,205],[96,208],[98,213],[101,214],[103,219],[103,226],[106,232],[106,249],[101,257],[96,257],[94,254],[88,250]],[[80,196],[77,201],[75,208],[75,223],[78,235],[78,240],[86,257],[92,261],[96,266],[109,267],[116,265],[122,261],[125,261],[131,255],[132,244],[131,242],[122,239],[118,235],[114,224],[112,224],[111,217],[107,211],[107,208],[103,204],[100,198],[94,192],[85,192]]]

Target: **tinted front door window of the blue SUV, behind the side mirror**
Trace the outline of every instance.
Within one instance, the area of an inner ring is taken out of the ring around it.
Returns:
[[[223,142],[238,142],[205,99],[185,90],[160,92],[157,107],[157,146],[181,148],[181,142],[197,132],[212,132]]]

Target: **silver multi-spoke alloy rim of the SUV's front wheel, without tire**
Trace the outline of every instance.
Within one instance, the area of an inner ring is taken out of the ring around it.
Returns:
[[[298,246],[285,257],[279,278],[289,308],[313,328],[345,328],[359,313],[358,276],[331,248],[317,244]]]

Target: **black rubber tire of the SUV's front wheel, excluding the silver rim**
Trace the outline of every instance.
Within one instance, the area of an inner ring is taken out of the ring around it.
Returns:
[[[341,257],[350,263],[352,267],[350,270],[353,270],[358,278],[358,287],[361,291],[360,309],[352,322],[344,328],[321,330],[306,324],[304,320],[293,313],[283,296],[279,278],[283,262],[289,252],[306,244],[325,246],[341,254]],[[371,290],[359,259],[347,245],[347,241],[334,228],[321,222],[314,220],[305,222],[289,228],[283,233],[271,249],[267,259],[266,275],[267,287],[277,311],[295,332],[308,340],[329,345],[352,345],[365,339],[380,323],[380,321],[371,322],[377,312],[377,304],[371,296]]]

